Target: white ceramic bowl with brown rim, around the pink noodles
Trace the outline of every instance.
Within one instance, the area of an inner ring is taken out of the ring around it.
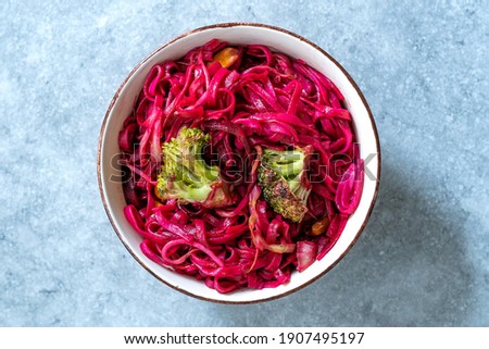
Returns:
[[[321,261],[314,262],[302,273],[294,272],[291,281],[277,288],[261,290],[243,289],[222,295],[208,288],[203,282],[170,271],[150,261],[139,249],[141,237],[127,223],[123,209],[126,205],[122,185],[111,180],[118,175],[113,166],[114,155],[118,153],[117,137],[124,120],[129,115],[135,99],[150,68],[160,62],[181,58],[190,49],[201,46],[212,38],[236,45],[260,43],[284,52],[292,58],[300,58],[317,71],[329,77],[341,90],[347,101],[360,142],[361,157],[369,173],[365,175],[362,199],[356,211],[350,216],[347,226],[334,248]],[[311,284],[328,272],[349,251],[365,227],[374,208],[380,176],[380,147],[374,119],[356,84],[327,52],[288,30],[262,24],[226,23],[195,29],[163,45],[139,63],[127,76],[116,91],[102,124],[98,151],[98,178],[100,194],[109,220],[115,233],[133,257],[152,275],[166,285],[187,295],[225,303],[248,303],[275,299],[289,295]],[[376,178],[376,179],[375,179]]]

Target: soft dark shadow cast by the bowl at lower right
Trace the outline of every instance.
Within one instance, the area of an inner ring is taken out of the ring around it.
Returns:
[[[405,167],[408,169],[408,167]],[[474,275],[467,213],[434,200],[410,171],[384,161],[379,196],[356,245],[319,281],[271,302],[209,311],[226,326],[460,326]]]

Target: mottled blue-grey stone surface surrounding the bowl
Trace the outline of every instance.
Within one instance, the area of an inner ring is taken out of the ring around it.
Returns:
[[[0,2],[0,325],[489,326],[486,1]],[[99,129],[161,43],[278,25],[356,79],[383,148],[378,204],[337,267],[285,299],[223,306],[167,288],[103,211]]]

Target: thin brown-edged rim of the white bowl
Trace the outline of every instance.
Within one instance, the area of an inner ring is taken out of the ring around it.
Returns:
[[[112,112],[112,109],[116,102],[116,100],[118,99],[122,89],[126,86],[127,82],[129,80],[129,78],[136,73],[136,71],[139,70],[139,67],[145,64],[148,60],[150,60],[154,54],[156,54],[159,51],[161,51],[162,49],[166,48],[167,46],[170,46],[171,43],[178,41],[181,38],[185,38],[189,35],[192,35],[195,33],[199,33],[199,32],[203,32],[203,30],[208,30],[208,29],[214,29],[214,28],[227,28],[227,27],[260,27],[260,28],[265,28],[265,29],[271,29],[271,30],[275,30],[275,32],[281,32],[284,34],[290,35],[292,37],[296,37],[297,39],[310,45],[311,47],[313,47],[314,49],[316,49],[317,51],[319,51],[322,54],[324,54],[329,61],[331,61],[331,63],[334,63],[340,71],[342,74],[344,74],[344,76],[347,77],[347,79],[349,80],[349,83],[352,85],[352,87],[355,89],[356,94],[359,94],[360,99],[365,108],[365,110],[367,111],[368,114],[368,119],[371,121],[372,124],[372,128],[375,135],[375,141],[376,141],[376,148],[377,148],[377,178],[376,178],[376,184],[375,184],[375,190],[374,190],[374,196],[372,198],[371,201],[371,205],[368,208],[368,211],[365,215],[365,219],[362,223],[362,225],[360,226],[359,230],[356,232],[356,235],[354,236],[354,238],[351,240],[350,245],[344,249],[344,251],[342,251],[342,253],[340,254],[340,257],[334,262],[331,263],[328,267],[326,267],[324,271],[322,271],[319,274],[317,274],[316,276],[314,276],[313,278],[309,279],[308,282],[298,285],[297,287],[293,287],[292,289],[281,292],[279,295],[275,295],[272,297],[267,297],[267,298],[260,298],[260,299],[255,299],[255,300],[244,300],[244,301],[236,301],[236,300],[221,300],[221,299],[213,299],[213,298],[208,298],[208,297],[203,297],[197,294],[192,294],[191,291],[188,291],[186,289],[181,289],[177,286],[174,286],[172,284],[170,284],[168,282],[166,282],[164,278],[160,277],[155,272],[153,272],[151,270],[151,267],[149,267],[145,261],[142,261],[141,259],[139,259],[134,252],[133,249],[127,246],[127,244],[124,241],[123,237],[122,237],[122,233],[118,230],[117,226],[114,223],[114,219],[112,217],[110,210],[109,210],[109,205],[108,205],[108,200],[105,198],[105,192],[103,190],[103,186],[102,186],[102,177],[101,177],[101,157],[102,157],[102,144],[103,144],[103,139],[104,139],[104,134],[105,134],[105,127],[106,127],[106,122],[109,119],[109,115]],[[125,77],[125,79],[123,80],[123,83],[120,85],[118,89],[116,90],[116,92],[114,94],[114,97],[112,98],[109,108],[105,112],[105,116],[103,117],[103,122],[102,122],[102,126],[100,128],[100,134],[99,134],[99,140],[98,140],[98,149],[97,149],[97,178],[98,178],[98,184],[99,184],[99,191],[100,191],[100,196],[102,199],[102,203],[103,203],[103,208],[105,210],[105,213],[109,217],[109,221],[111,222],[112,228],[114,229],[115,234],[117,234],[118,239],[123,242],[123,245],[125,246],[125,248],[127,249],[127,251],[133,255],[133,258],[143,267],[146,269],[146,271],[148,271],[151,275],[153,275],[158,281],[162,282],[163,284],[170,286],[171,288],[183,292],[187,296],[200,299],[200,300],[205,300],[205,301],[210,301],[210,302],[214,302],[214,303],[222,303],[222,304],[252,304],[252,303],[260,303],[260,302],[264,302],[264,301],[271,301],[271,300],[275,300],[275,299],[279,299],[283,297],[286,297],[288,295],[291,295],[293,292],[297,292],[298,290],[301,290],[302,288],[311,285],[312,283],[316,282],[317,279],[319,279],[321,277],[323,277],[326,273],[328,273],[331,269],[334,269],[343,258],[344,255],[351,250],[351,248],[355,245],[355,242],[359,240],[360,236],[362,235],[363,230],[365,229],[365,226],[368,223],[368,220],[372,215],[372,211],[374,210],[375,207],[375,202],[377,200],[378,197],[378,190],[379,190],[379,185],[380,185],[380,175],[381,175],[381,151],[380,151],[380,141],[379,141],[379,136],[378,136],[378,132],[377,132],[377,126],[375,124],[375,120],[374,116],[372,114],[371,108],[368,107],[368,103],[365,99],[365,97],[363,96],[361,89],[359,88],[359,86],[356,85],[356,83],[354,82],[354,79],[350,76],[350,74],[347,72],[347,70],[340,64],[338,63],[338,61],[336,61],[336,59],[334,59],[328,52],[326,52],[324,49],[322,49],[319,46],[317,46],[316,43],[310,41],[309,39],[293,33],[287,29],[284,29],[281,27],[278,26],[274,26],[274,25],[268,25],[268,24],[263,24],[263,23],[253,23],[253,22],[225,22],[225,23],[217,23],[217,24],[211,24],[211,25],[205,25],[205,26],[201,26],[198,28],[195,28],[192,30],[186,32],[179,36],[174,37],[173,39],[166,41],[165,43],[163,43],[162,46],[160,46],[159,48],[156,48],[154,51],[152,51],[151,53],[149,53],[145,59],[142,59],[131,71],[130,73]]]

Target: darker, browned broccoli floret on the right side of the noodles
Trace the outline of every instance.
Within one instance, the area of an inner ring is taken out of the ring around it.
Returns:
[[[259,169],[259,185],[275,212],[292,222],[301,222],[308,212],[311,189],[302,184],[310,147],[277,151],[264,149]]]

